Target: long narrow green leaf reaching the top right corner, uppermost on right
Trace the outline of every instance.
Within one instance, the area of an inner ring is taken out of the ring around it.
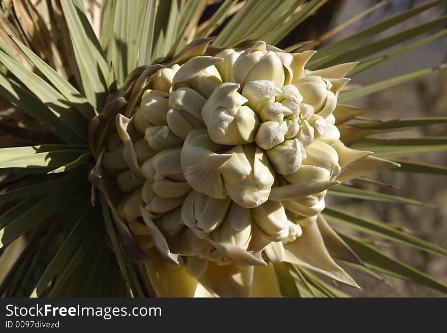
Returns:
[[[373,38],[380,34],[382,31],[385,31],[400,22],[403,22],[419,13],[422,13],[432,7],[440,5],[444,2],[444,0],[436,0],[424,6],[420,6],[418,8],[409,9],[403,13],[397,14],[387,20],[381,21],[377,24],[374,24],[368,28],[365,28],[353,35],[348,36],[338,42],[335,42],[331,45],[328,45],[321,50],[319,50],[312,59],[308,62],[309,69],[317,69],[313,68],[312,64],[315,63],[318,59],[321,59],[330,54],[339,54],[340,52],[346,52],[347,50],[351,50],[353,47],[360,45],[363,42],[366,42],[370,38]]]

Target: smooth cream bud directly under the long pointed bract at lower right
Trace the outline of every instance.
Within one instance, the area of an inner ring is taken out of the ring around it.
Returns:
[[[271,241],[278,242],[289,235],[288,218],[279,201],[267,200],[253,208],[251,218]]]

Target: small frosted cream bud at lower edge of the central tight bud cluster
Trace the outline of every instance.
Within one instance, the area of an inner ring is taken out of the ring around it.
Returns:
[[[296,172],[306,158],[304,146],[298,139],[285,140],[266,154],[275,171],[284,175]]]

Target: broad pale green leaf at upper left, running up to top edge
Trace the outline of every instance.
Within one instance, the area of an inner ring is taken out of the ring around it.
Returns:
[[[74,0],[61,1],[60,4],[81,76],[82,90],[90,104],[100,110],[107,95],[109,64],[79,4]]]

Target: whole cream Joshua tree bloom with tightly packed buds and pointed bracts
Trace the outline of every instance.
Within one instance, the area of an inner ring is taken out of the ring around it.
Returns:
[[[260,41],[127,79],[101,152],[121,193],[110,204],[156,269],[177,272],[173,283],[256,295],[256,271],[287,262],[356,286],[330,256],[321,228],[342,241],[320,214],[327,189],[371,154],[346,147],[332,115],[356,63],[305,70],[313,54]],[[148,272],[158,295],[172,294]]]

